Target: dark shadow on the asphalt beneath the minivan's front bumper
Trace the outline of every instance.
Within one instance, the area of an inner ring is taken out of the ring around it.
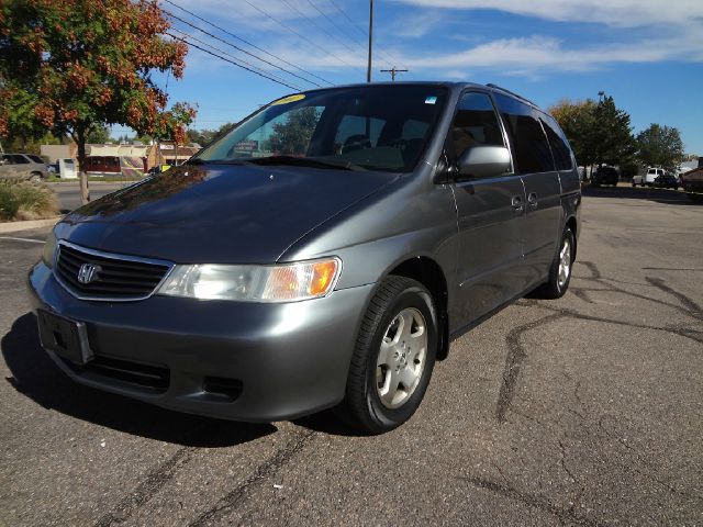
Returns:
[[[237,423],[171,412],[71,381],[42,349],[36,318],[26,313],[0,341],[12,372],[7,381],[45,408],[115,430],[190,447],[230,447],[277,431],[270,424]]]

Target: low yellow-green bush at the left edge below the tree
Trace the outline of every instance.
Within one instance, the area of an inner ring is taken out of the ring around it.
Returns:
[[[58,214],[54,191],[44,184],[0,180],[0,222],[41,220]]]

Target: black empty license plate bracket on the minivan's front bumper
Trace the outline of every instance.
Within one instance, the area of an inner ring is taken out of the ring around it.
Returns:
[[[37,318],[40,340],[45,349],[76,365],[85,365],[92,359],[85,322],[71,321],[42,310],[37,312]]]

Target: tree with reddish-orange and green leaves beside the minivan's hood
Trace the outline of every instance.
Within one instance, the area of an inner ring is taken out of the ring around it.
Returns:
[[[165,40],[168,27],[155,0],[3,0],[0,135],[68,135],[80,167],[88,135],[109,124],[182,142],[194,110],[166,110],[153,80],[183,72],[187,46]],[[81,195],[89,201],[82,171]]]

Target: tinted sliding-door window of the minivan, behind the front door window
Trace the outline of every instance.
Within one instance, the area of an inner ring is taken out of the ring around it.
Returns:
[[[531,106],[512,97],[495,93],[495,101],[513,144],[517,173],[554,170],[549,143]]]

